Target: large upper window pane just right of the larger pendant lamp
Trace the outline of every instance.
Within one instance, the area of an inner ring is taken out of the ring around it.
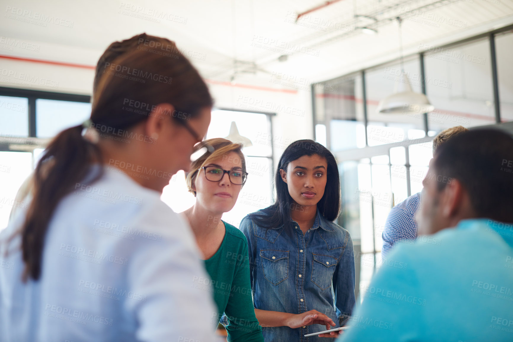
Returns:
[[[453,126],[495,123],[488,38],[427,53],[426,94],[435,111],[428,124],[437,131]]]

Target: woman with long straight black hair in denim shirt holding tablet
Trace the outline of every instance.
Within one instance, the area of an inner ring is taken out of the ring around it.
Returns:
[[[321,144],[298,140],[283,152],[275,185],[276,202],[240,225],[264,339],[337,337],[304,337],[342,327],[355,304],[352,240],[332,222],[340,212],[337,162]]]

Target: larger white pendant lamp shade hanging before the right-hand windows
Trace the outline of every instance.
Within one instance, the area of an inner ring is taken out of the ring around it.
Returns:
[[[396,81],[394,88],[393,94],[380,101],[376,112],[382,114],[423,114],[430,113],[435,109],[426,95],[411,90],[406,74],[403,74],[401,83]],[[400,92],[398,92],[399,89]]]

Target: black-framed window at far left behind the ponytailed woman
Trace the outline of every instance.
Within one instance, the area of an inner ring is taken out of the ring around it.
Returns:
[[[80,102],[77,102],[80,101]],[[16,193],[47,139],[90,115],[89,96],[0,88],[0,230],[7,226]],[[23,201],[23,199],[21,199]]]

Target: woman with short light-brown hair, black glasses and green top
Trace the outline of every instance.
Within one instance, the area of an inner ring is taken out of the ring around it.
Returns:
[[[246,237],[221,220],[235,205],[248,175],[242,146],[214,138],[204,140],[196,149],[204,147],[210,150],[192,163],[187,175],[196,202],[184,212],[211,278],[203,284],[211,285],[217,321],[225,313],[223,324],[230,341],[263,342],[253,309]]]

